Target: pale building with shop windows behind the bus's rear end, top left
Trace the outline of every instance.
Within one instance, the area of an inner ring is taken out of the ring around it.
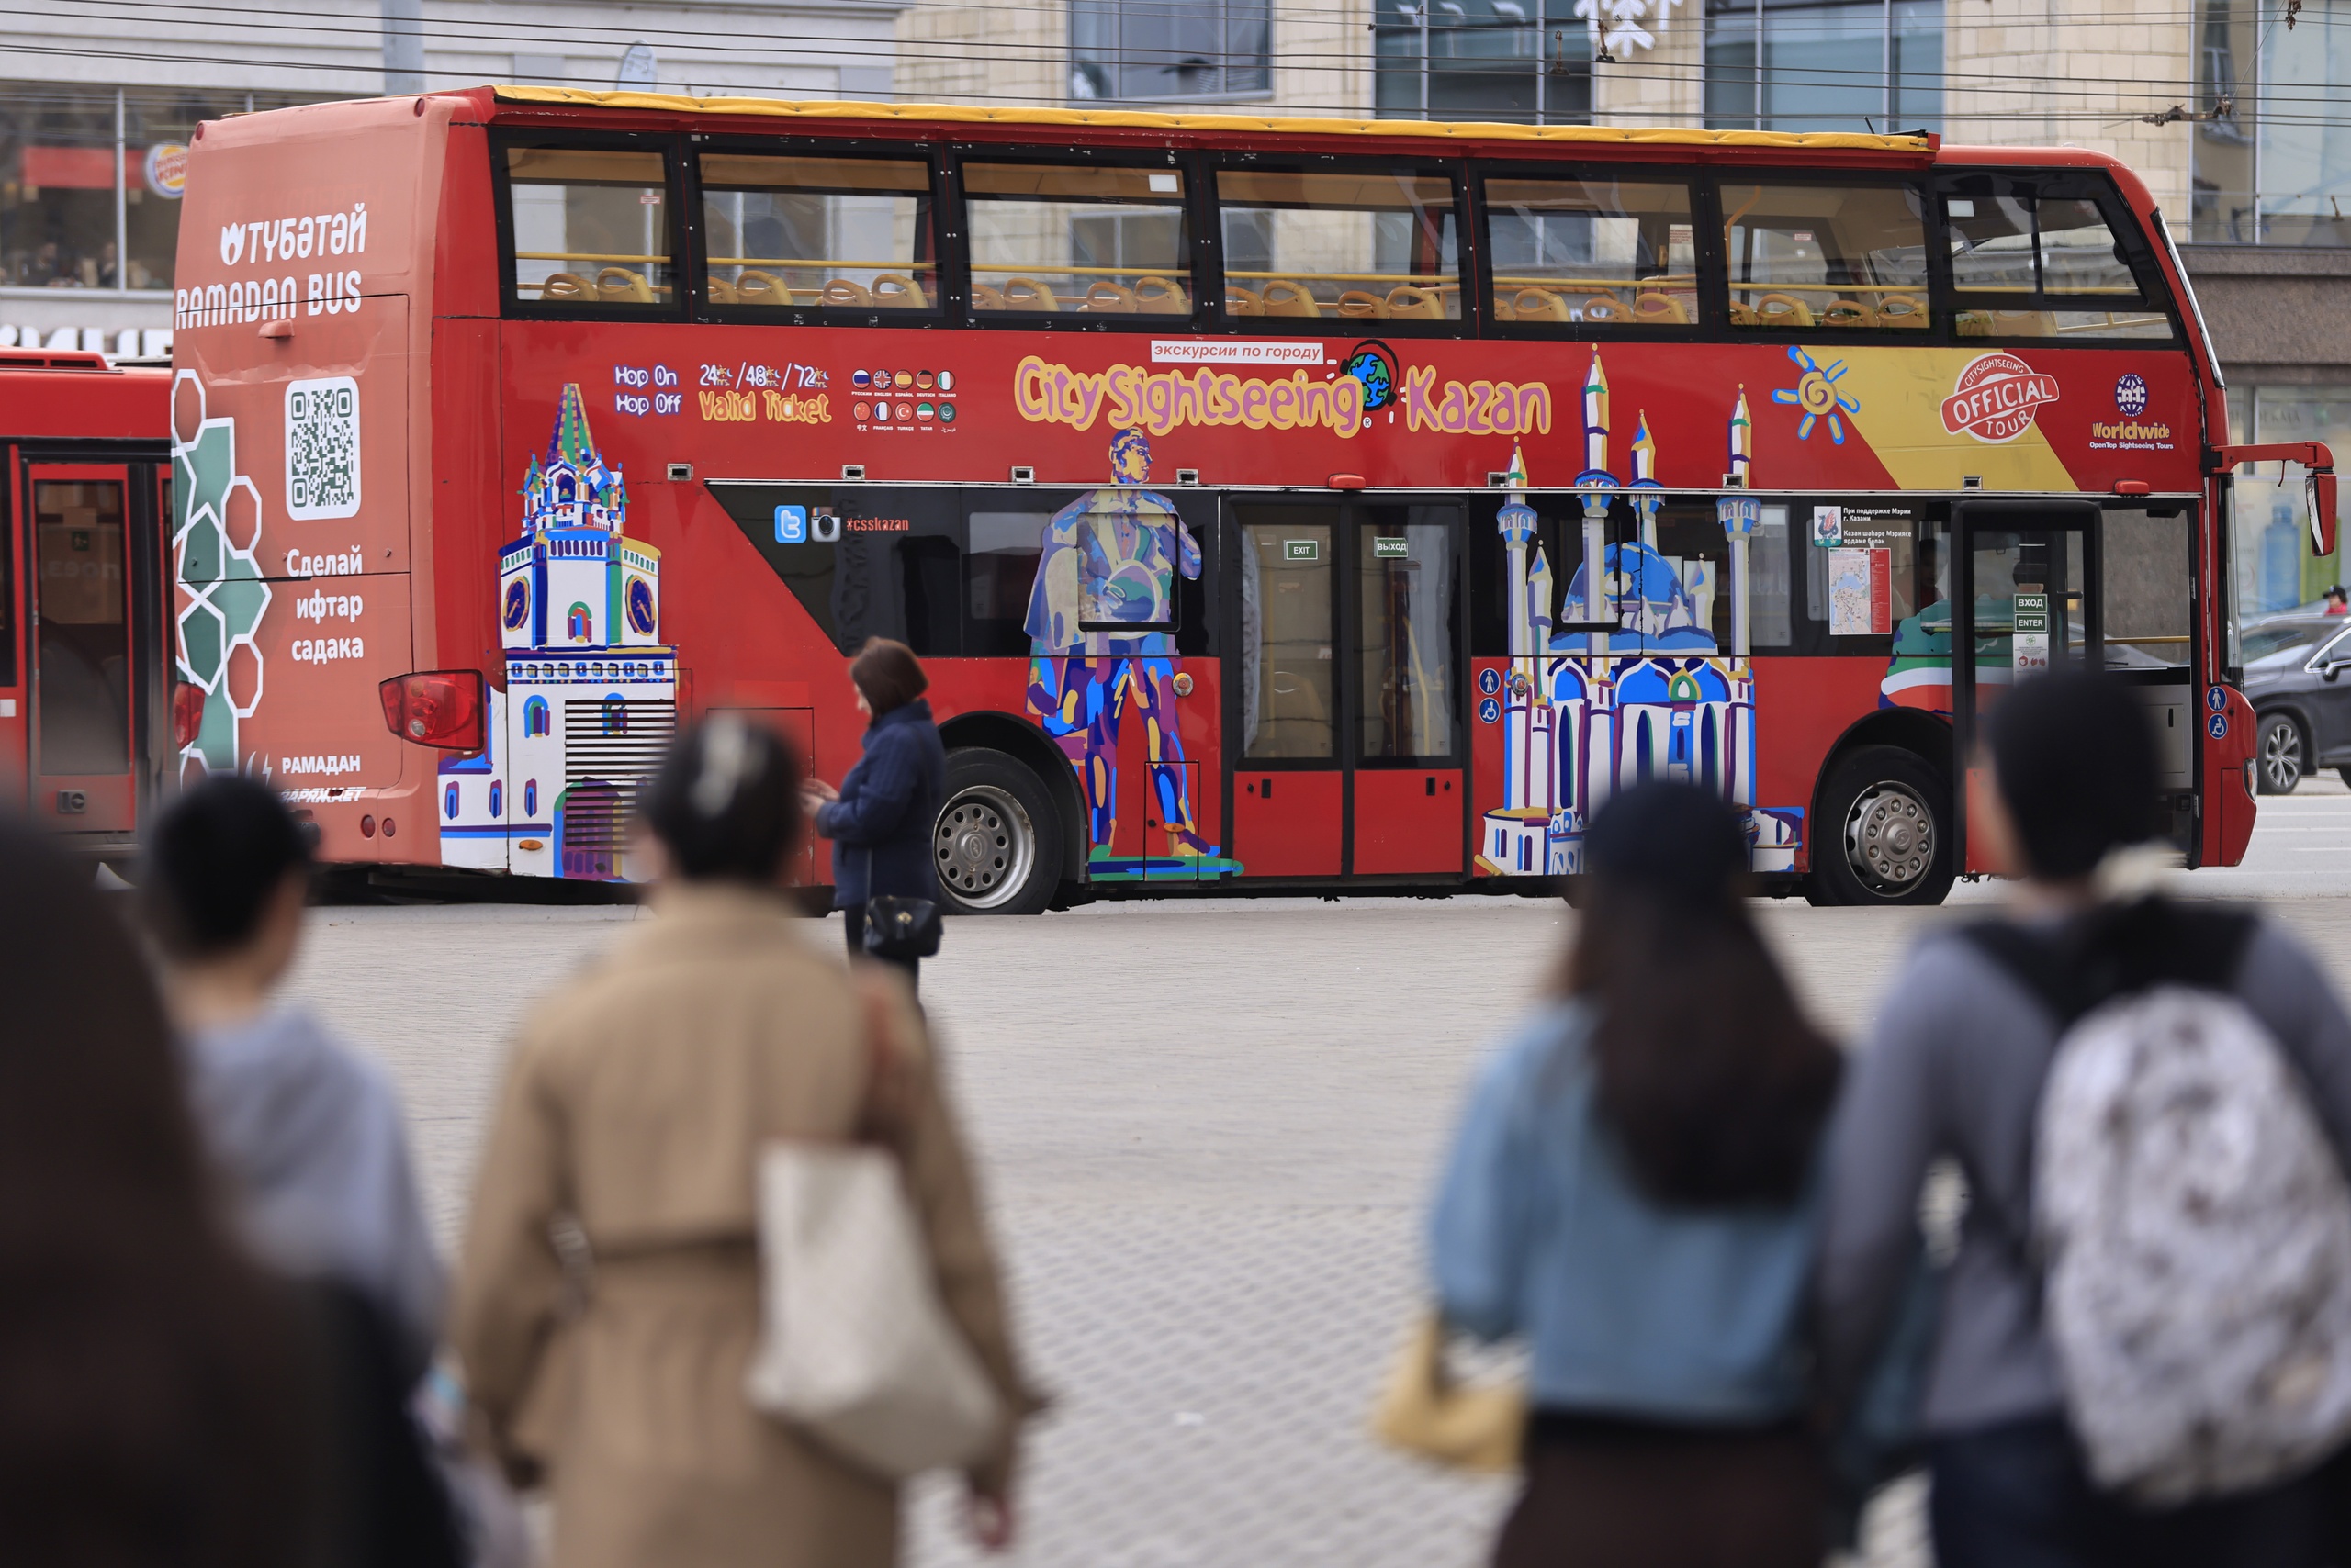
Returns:
[[[896,19],[898,0],[14,12],[0,19],[0,348],[169,348],[200,120],[477,82],[875,99],[891,92]]]

